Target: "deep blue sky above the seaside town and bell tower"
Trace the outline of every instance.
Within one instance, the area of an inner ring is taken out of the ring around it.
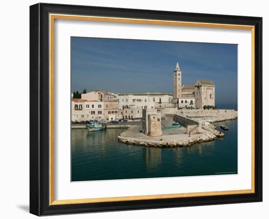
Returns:
[[[173,93],[179,62],[182,85],[212,80],[216,105],[237,103],[237,45],[71,37],[71,91]]]

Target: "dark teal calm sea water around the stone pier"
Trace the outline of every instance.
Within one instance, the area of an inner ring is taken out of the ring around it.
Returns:
[[[198,176],[237,173],[237,120],[225,137],[189,147],[156,148],[126,145],[124,129],[71,130],[71,181]]]

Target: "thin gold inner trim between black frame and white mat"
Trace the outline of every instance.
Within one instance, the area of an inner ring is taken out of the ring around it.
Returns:
[[[160,194],[160,195],[137,195],[122,197],[105,198],[85,198],[70,200],[54,200],[54,20],[81,20],[81,21],[99,21],[99,22],[117,22],[133,24],[157,24],[157,25],[175,25],[175,26],[194,26],[194,27],[214,27],[229,29],[247,29],[251,30],[251,189],[249,190],[231,190],[217,192],[198,192],[181,194]],[[79,16],[65,14],[49,14],[49,205],[64,204],[82,204],[98,203],[112,201],[130,201],[130,200],[150,200],[158,198],[179,198],[210,195],[238,195],[255,193],[255,26],[237,25],[237,24],[214,24],[198,22],[130,19],[130,18],[112,18]]]

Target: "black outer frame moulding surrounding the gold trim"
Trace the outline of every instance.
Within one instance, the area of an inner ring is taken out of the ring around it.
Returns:
[[[49,14],[255,26],[255,192],[151,200],[50,205]],[[30,213],[38,216],[262,201],[262,18],[38,3],[30,6]]]

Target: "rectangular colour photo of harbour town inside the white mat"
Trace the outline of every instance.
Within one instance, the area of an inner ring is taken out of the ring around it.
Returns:
[[[72,37],[71,91],[71,181],[237,173],[237,45]]]

